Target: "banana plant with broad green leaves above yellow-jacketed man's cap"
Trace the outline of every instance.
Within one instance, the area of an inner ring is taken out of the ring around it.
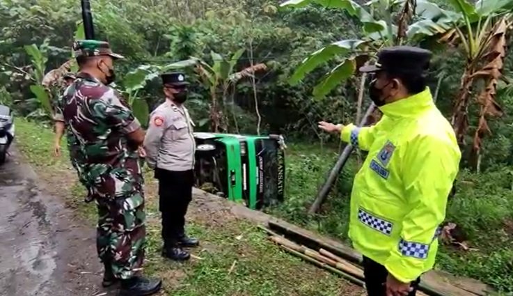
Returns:
[[[344,10],[361,24],[362,29],[362,38],[333,42],[310,54],[294,71],[290,77],[292,85],[299,84],[308,73],[320,65],[338,59],[338,65],[326,73],[313,89],[315,98],[323,98],[333,88],[354,75],[359,65],[365,61],[374,60],[381,47],[409,42],[409,39],[405,40],[405,38],[413,35],[420,36],[425,26],[435,24],[434,20],[443,15],[443,10],[426,0],[372,0],[364,6],[351,0],[289,0],[281,6],[301,8],[314,3],[325,8]],[[427,22],[409,24],[413,20],[413,15],[432,24]],[[374,19],[376,16],[382,16],[384,20]]]

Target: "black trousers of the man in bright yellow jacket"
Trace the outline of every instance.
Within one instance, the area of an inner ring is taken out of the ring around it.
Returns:
[[[365,288],[367,288],[368,296],[386,296],[386,277],[388,276],[388,271],[383,265],[364,256],[363,274],[365,276]],[[411,283],[413,291],[408,296],[416,295],[419,283],[420,277]]]

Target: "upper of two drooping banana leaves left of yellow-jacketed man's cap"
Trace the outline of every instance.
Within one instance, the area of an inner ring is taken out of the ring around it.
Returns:
[[[319,65],[326,63],[333,59],[335,56],[348,54],[356,49],[359,49],[361,45],[366,42],[358,39],[341,40],[334,42],[322,49],[317,50],[313,54],[310,54],[308,58],[303,60],[303,63],[299,65],[292,77],[290,77],[289,83],[296,85],[301,81],[309,72],[312,72]]]

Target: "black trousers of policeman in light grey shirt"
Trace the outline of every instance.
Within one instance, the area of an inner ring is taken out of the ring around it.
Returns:
[[[159,210],[162,215],[162,240],[173,247],[184,236],[185,215],[192,200],[194,172],[156,169],[159,180]]]

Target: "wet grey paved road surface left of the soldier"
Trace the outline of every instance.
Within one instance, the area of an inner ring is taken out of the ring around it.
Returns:
[[[0,166],[0,295],[105,295],[93,229],[43,187],[17,155]]]

